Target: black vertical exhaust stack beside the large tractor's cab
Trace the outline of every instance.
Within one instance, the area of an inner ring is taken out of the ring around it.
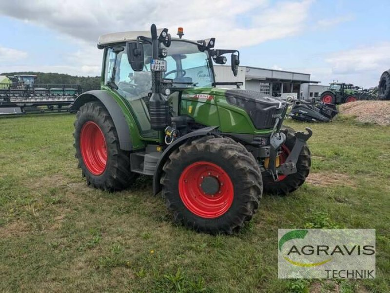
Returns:
[[[152,59],[159,59],[160,42],[157,39],[157,28],[151,26],[152,34]],[[164,130],[171,124],[168,99],[162,93],[161,71],[152,71],[152,96],[149,100],[150,124],[154,130]]]

